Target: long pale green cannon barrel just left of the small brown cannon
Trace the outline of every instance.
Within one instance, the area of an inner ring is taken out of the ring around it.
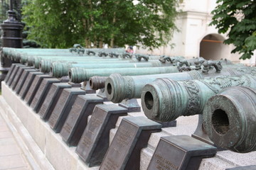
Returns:
[[[170,67],[142,67],[142,68],[112,68],[112,69],[84,69],[84,68],[71,68],[68,72],[70,81],[80,83],[87,81],[90,77],[100,76],[109,77],[110,74],[119,73],[123,76],[146,75],[146,74],[164,74],[178,72],[178,68]]]

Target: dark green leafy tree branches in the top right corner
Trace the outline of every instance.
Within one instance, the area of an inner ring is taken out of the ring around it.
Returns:
[[[254,0],[218,0],[212,11],[210,25],[218,33],[228,33],[225,44],[235,45],[233,53],[239,52],[240,59],[249,59],[256,50],[256,2]]]

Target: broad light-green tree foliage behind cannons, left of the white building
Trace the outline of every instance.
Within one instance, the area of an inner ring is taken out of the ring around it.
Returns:
[[[159,47],[176,30],[177,0],[29,0],[23,8],[31,35],[46,47],[142,44]]]

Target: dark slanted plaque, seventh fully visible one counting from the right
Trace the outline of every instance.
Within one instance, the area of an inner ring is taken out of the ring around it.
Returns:
[[[39,109],[41,108],[43,101],[48,94],[50,86],[53,83],[60,83],[60,80],[56,78],[43,79],[41,85],[38,88],[38,91],[36,91],[36,95],[31,102],[31,108],[33,108],[33,111],[36,113],[38,113]]]

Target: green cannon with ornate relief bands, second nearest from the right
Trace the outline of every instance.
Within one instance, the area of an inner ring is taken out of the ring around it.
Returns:
[[[147,118],[161,122],[202,114],[206,101],[228,86],[256,88],[256,77],[245,74],[188,81],[156,79],[142,89],[142,108]]]

